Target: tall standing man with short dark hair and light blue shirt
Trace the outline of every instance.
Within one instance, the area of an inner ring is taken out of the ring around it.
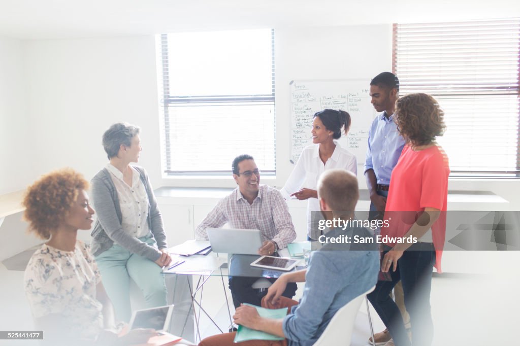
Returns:
[[[399,97],[399,79],[391,72],[382,72],[370,82],[371,103],[375,110],[382,112],[375,117],[368,132],[368,149],[365,158],[365,178],[370,194],[370,219],[382,219],[386,206],[386,197],[390,187],[392,170],[401,155],[405,140],[399,135],[394,122],[395,102]],[[379,230],[378,230],[379,231]],[[394,289],[395,301],[401,311],[405,325],[410,317],[405,309],[402,285],[399,282]],[[388,330],[375,334],[376,344],[385,344],[391,340]],[[372,342],[370,340],[370,342]],[[387,346],[393,346],[393,343]]]

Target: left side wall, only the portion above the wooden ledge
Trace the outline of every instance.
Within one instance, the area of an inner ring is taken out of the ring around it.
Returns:
[[[0,37],[0,195],[25,188],[33,177],[27,105],[23,43]]]

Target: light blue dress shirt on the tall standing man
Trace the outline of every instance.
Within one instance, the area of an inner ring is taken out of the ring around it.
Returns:
[[[372,168],[378,184],[389,185],[392,170],[401,155],[405,140],[399,135],[394,115],[388,118],[386,112],[374,119],[368,132],[368,149],[365,159],[365,169]]]

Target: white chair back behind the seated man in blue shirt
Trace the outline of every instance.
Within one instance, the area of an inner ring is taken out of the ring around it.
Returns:
[[[343,308],[336,311],[329,325],[323,331],[323,334],[321,334],[320,338],[314,343],[314,346],[349,345],[361,302],[374,288],[375,286],[349,301]]]

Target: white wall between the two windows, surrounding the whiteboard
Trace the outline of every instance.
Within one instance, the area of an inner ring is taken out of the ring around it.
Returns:
[[[289,83],[293,79],[366,79],[368,87],[372,77],[392,71],[392,25],[282,29],[275,31],[275,43],[275,184],[282,187],[294,167],[289,162]],[[361,187],[366,187],[361,167],[358,177]]]

